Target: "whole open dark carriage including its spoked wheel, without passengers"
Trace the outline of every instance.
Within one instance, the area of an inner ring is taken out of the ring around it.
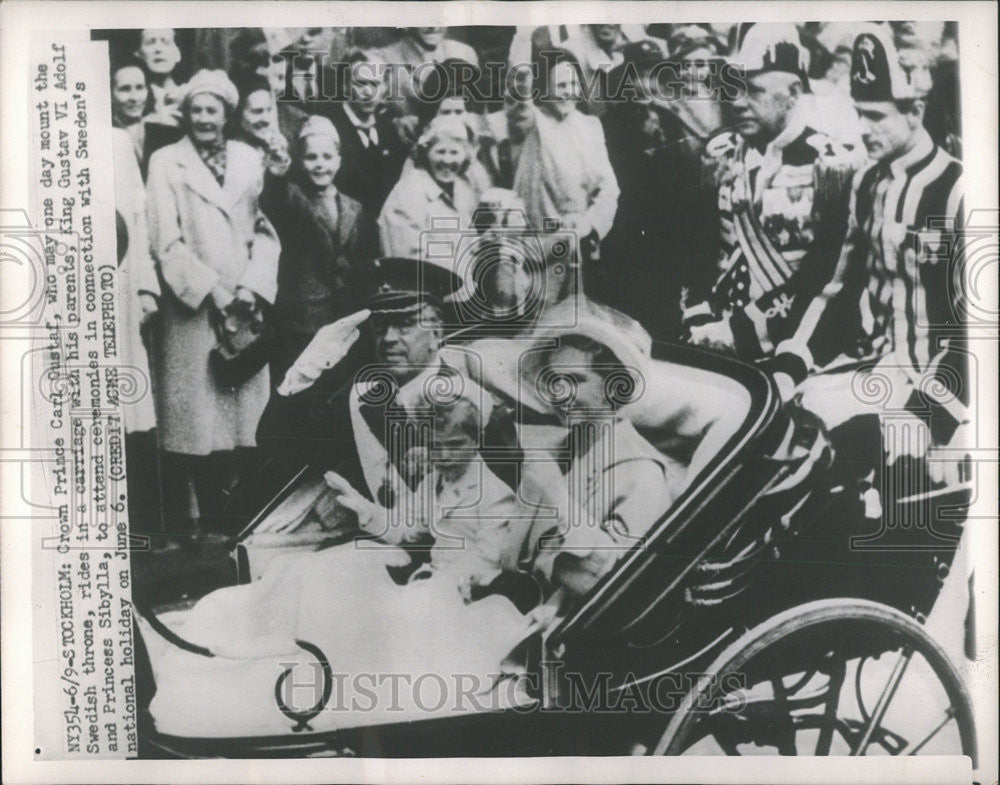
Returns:
[[[492,695],[461,711],[348,713],[333,726],[324,712],[337,663],[303,639],[297,643],[312,658],[315,701],[289,708],[289,671],[272,666],[261,677],[264,698],[249,710],[266,730],[252,732],[249,717],[235,732],[224,723],[209,734],[177,732],[183,721],[165,723],[149,711],[163,652],[218,655],[137,608],[148,666],[140,668],[146,754],[975,759],[969,695],[923,624],[951,566],[966,492],[886,500],[922,505],[929,525],[884,526],[914,520],[912,510],[866,517],[857,483],[831,460],[823,429],[783,407],[765,374],[662,346],[646,383],[654,399],[664,385],[693,396],[711,391],[723,413],[701,436],[711,455],[696,446],[700,457],[683,493],[642,542],[568,615],[532,631],[503,667],[497,663]],[[274,510],[308,476],[305,469],[284,483],[244,530],[235,554],[243,580],[251,580],[262,545],[274,544],[262,534]],[[287,731],[272,732],[275,720]]]

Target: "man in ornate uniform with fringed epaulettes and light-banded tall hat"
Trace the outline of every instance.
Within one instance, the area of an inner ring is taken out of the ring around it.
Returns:
[[[859,162],[799,111],[809,79],[794,25],[742,25],[738,47],[734,130],[705,148],[718,188],[717,265],[692,271],[682,309],[692,343],[758,360],[830,280]]]

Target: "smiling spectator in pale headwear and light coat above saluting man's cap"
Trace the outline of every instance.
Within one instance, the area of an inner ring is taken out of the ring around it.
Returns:
[[[468,177],[473,161],[474,135],[457,117],[437,117],[421,135],[413,151],[413,169],[404,172],[379,215],[379,237],[386,256],[422,258],[433,249],[435,224],[448,223],[455,231],[440,232],[442,241],[457,243],[457,231],[467,229],[479,202],[476,185]],[[453,266],[453,259],[439,263]]]

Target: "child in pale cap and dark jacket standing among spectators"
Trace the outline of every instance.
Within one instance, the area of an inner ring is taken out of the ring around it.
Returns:
[[[281,241],[274,325],[278,347],[271,376],[280,382],[325,324],[357,309],[357,267],[376,255],[374,221],[333,184],[340,169],[340,135],[313,115],[295,140],[294,169],[269,164],[261,208]]]

